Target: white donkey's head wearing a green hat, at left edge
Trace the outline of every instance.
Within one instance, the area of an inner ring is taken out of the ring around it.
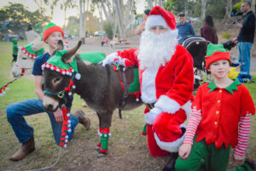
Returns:
[[[35,59],[44,54],[44,42],[35,41],[32,44],[20,47],[17,55],[17,61],[13,66],[12,74],[14,77],[20,77],[32,73],[32,67]]]

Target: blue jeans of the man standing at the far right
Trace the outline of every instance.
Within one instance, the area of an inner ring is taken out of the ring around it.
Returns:
[[[238,60],[241,63],[240,70],[250,74],[252,43],[238,43]]]

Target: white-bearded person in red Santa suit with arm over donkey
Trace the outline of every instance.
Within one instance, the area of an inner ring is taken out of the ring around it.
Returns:
[[[118,62],[121,66],[138,66],[141,98],[146,104],[148,149],[153,157],[172,157],[164,170],[173,170],[177,150],[183,142],[193,98],[193,60],[177,44],[174,15],[155,6],[146,21],[139,48],[108,55],[102,65]]]

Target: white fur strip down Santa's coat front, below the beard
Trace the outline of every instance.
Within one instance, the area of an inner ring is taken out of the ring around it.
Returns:
[[[158,69],[146,68],[143,71],[142,79],[142,100],[144,103],[154,103],[156,101],[155,77]]]

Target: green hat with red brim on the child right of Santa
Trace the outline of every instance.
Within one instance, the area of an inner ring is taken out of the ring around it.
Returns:
[[[207,69],[209,69],[209,66],[212,64],[212,62],[216,62],[218,60],[229,60],[230,64],[232,64],[230,60],[230,52],[226,48],[224,48],[223,44],[210,43],[207,47]]]

